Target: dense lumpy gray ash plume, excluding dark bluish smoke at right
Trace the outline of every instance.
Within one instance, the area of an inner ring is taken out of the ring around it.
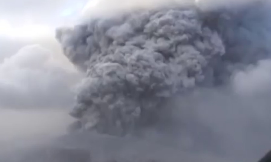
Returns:
[[[110,134],[133,129],[164,99],[202,83],[225,53],[217,32],[191,8],[93,20],[57,37],[87,73],[71,115]]]

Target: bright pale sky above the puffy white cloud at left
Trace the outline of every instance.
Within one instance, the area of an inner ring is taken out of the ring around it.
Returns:
[[[74,21],[86,2],[87,0],[0,1],[0,62],[25,45],[52,44],[54,29]]]

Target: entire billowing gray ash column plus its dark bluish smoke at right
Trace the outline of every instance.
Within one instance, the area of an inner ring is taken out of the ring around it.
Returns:
[[[261,35],[250,21],[254,11],[159,8],[58,29],[65,55],[86,73],[70,115],[83,130],[124,135],[158,120],[172,96],[226,82],[239,63],[268,52],[253,42]],[[254,38],[247,34],[253,31]]]

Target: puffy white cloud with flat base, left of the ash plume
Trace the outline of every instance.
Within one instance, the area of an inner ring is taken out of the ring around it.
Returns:
[[[79,74],[39,45],[23,47],[0,64],[0,107],[62,107],[73,102]]]

